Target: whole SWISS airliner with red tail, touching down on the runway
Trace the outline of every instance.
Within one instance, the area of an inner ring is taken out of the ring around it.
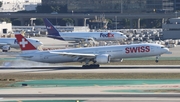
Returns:
[[[123,58],[156,56],[169,53],[169,49],[159,44],[141,43],[112,45],[61,50],[39,51],[21,34],[15,35],[22,53],[18,57],[44,63],[85,62],[83,68],[100,67],[99,64],[122,61]],[[93,62],[93,64],[89,64]]]

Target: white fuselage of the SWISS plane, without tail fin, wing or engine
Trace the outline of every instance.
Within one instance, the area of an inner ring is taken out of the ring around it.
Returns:
[[[62,50],[51,50],[50,52],[66,52],[66,53],[81,53],[81,54],[108,54],[111,59],[134,58],[157,56],[168,52],[169,49],[157,44],[132,44],[132,45],[116,45],[116,46],[102,46],[89,48],[73,48]],[[49,53],[49,51],[35,51],[32,53],[22,53],[21,55],[33,56],[26,60],[32,60],[45,63],[64,63],[76,62],[77,57],[63,56],[60,54]]]

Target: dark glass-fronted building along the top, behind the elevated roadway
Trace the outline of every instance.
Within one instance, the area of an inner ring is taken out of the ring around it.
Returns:
[[[180,10],[179,0],[42,0],[42,5],[65,5],[72,13],[165,13]]]

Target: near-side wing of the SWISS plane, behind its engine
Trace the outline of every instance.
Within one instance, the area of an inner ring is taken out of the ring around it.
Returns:
[[[83,54],[83,53],[71,53],[71,52],[49,52],[49,53],[69,56],[69,57],[75,58],[78,61],[84,61],[86,59],[92,60],[96,57],[96,54]]]

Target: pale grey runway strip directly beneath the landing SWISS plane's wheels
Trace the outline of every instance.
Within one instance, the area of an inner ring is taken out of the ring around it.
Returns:
[[[148,68],[146,66],[143,66],[141,68],[132,68],[133,66],[130,66],[131,68],[128,68],[128,66],[123,67],[120,65],[120,67],[111,68],[111,67],[103,67],[101,69],[83,69],[83,68],[75,68],[75,67],[49,67],[49,68],[43,68],[43,67],[36,67],[36,68],[24,68],[24,67],[9,67],[9,68],[0,68],[0,74],[4,73],[180,73],[179,65],[178,67],[169,67],[169,68],[163,68],[162,66],[157,67],[151,67]]]

